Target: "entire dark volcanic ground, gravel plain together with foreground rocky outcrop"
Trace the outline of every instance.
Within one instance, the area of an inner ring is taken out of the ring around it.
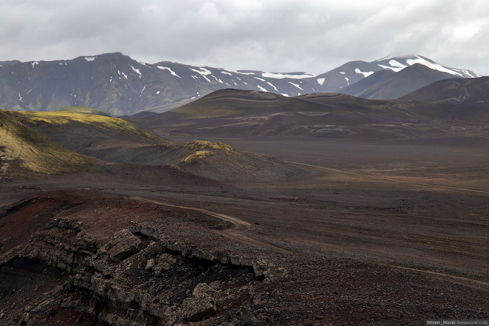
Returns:
[[[3,177],[0,324],[489,319],[487,139],[202,139],[296,173]]]

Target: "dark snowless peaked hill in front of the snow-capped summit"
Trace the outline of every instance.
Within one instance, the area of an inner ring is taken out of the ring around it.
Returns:
[[[451,74],[416,63],[398,73],[378,71],[360,82],[339,89],[338,92],[368,99],[394,99],[432,82],[452,77]]]

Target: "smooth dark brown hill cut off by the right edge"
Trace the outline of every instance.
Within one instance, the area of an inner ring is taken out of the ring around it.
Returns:
[[[487,104],[489,102],[489,77],[454,78],[434,82],[400,99],[447,104]]]

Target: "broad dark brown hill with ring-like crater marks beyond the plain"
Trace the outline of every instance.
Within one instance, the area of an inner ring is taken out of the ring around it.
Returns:
[[[223,89],[158,117],[130,121],[169,137],[364,139],[486,135],[488,119],[489,112],[474,105]]]

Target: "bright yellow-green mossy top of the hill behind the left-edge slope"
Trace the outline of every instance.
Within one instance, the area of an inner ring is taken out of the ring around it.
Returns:
[[[65,112],[65,111],[54,111],[54,112],[8,111],[8,114],[11,115],[12,118],[15,118],[16,120],[22,123],[27,123],[32,125],[41,125],[44,123],[55,127],[59,125],[67,125],[70,123],[78,122],[86,125],[91,125],[100,129],[112,129],[121,133],[134,134],[150,140],[155,140],[155,141],[163,140],[163,138],[160,138],[156,135],[153,135],[149,132],[139,129],[134,124],[118,118],[105,117],[105,116],[94,115],[94,114],[72,113],[72,112]]]

